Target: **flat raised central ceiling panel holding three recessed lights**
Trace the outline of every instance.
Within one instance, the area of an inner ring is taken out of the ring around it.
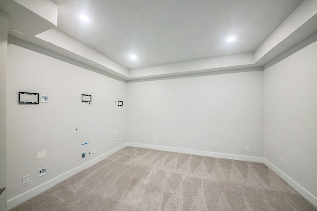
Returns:
[[[54,0],[57,30],[128,69],[254,52],[302,1]]]

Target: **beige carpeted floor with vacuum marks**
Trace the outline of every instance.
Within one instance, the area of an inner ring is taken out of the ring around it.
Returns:
[[[11,211],[317,211],[262,163],[126,147]]]

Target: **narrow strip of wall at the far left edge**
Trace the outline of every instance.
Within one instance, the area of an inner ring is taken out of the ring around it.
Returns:
[[[0,188],[6,187],[6,73],[8,19],[0,13]],[[0,211],[6,211],[7,189],[0,195]]]

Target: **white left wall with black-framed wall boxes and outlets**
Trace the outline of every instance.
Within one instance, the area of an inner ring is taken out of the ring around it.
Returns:
[[[7,72],[8,201],[126,142],[127,108],[114,104],[126,102],[126,83],[12,43]],[[49,103],[18,104],[19,91],[49,96]],[[92,95],[91,106],[82,106],[82,94]],[[22,184],[25,175],[30,182]]]

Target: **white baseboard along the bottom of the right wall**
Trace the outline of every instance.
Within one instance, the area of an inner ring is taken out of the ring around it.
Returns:
[[[310,192],[305,190],[302,186],[300,186],[297,182],[291,179],[288,175],[286,175],[283,171],[275,167],[271,162],[264,158],[264,164],[272,169],[277,175],[279,175],[282,179],[284,179],[292,188],[294,188],[297,192],[299,192],[305,199],[307,199],[310,203],[312,203],[315,207],[317,207],[317,198],[313,196]]]

